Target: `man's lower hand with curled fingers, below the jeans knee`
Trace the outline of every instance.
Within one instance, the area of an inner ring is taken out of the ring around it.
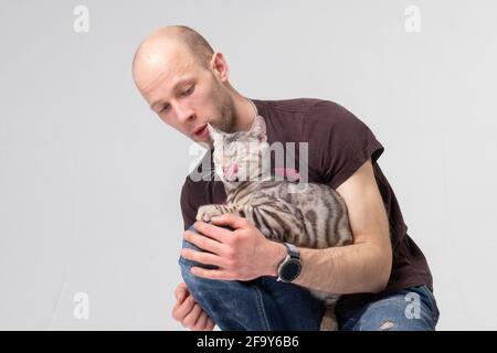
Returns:
[[[212,331],[214,322],[200,308],[184,282],[179,284],[175,291],[176,304],[172,309],[172,318],[193,331]]]

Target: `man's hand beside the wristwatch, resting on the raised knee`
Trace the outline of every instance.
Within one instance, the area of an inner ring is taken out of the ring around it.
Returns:
[[[267,239],[246,218],[223,214],[211,220],[212,224],[195,222],[201,233],[184,232],[184,239],[209,252],[183,248],[181,255],[189,260],[215,265],[219,269],[192,267],[199,277],[222,280],[251,280],[261,276],[276,276],[277,265],[285,258],[283,244]],[[233,231],[220,226],[230,226]]]

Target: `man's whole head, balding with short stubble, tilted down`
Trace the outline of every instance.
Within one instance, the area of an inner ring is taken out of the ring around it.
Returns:
[[[207,122],[230,132],[235,120],[228,73],[223,55],[182,25],[147,36],[133,62],[135,84],[151,109],[178,131],[209,145]]]

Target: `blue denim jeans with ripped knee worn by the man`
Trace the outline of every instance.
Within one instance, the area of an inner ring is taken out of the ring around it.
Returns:
[[[193,226],[190,231],[198,233]],[[183,247],[199,248],[183,239]],[[316,331],[324,303],[306,288],[260,277],[250,281],[194,276],[192,266],[215,268],[179,258],[181,276],[195,301],[221,330]],[[343,331],[432,331],[438,320],[436,302],[425,286],[411,287],[338,318]]]

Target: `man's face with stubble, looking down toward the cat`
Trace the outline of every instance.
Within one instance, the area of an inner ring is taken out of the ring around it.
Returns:
[[[135,68],[135,82],[162,121],[194,141],[212,146],[207,122],[231,131],[234,105],[212,68],[198,64],[179,47],[148,55]]]

